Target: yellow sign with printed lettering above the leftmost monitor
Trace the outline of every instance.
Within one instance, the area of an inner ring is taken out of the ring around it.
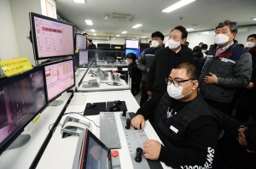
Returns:
[[[17,73],[32,70],[32,65],[27,58],[7,59],[0,61],[5,76],[13,76]]]

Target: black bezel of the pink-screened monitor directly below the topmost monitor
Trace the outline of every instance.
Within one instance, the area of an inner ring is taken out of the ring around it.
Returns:
[[[64,91],[62,91],[61,93],[57,94],[55,97],[53,97],[52,99],[48,99],[48,87],[47,87],[47,83],[46,83],[46,91],[47,91],[47,99],[48,99],[48,102],[51,103],[53,102],[55,99],[59,98],[61,96],[62,93],[65,93],[67,92],[67,90],[70,90],[71,88],[75,87],[76,86],[76,79],[75,79],[75,70],[74,70],[74,59],[62,59],[62,60],[58,60],[58,61],[55,61],[55,62],[50,62],[48,64],[44,64],[44,81],[46,82],[46,76],[45,76],[45,66],[48,66],[48,65],[55,65],[55,64],[59,64],[61,62],[66,62],[66,61],[69,61],[69,60],[73,60],[73,85],[71,87],[67,87],[67,89],[65,89]]]

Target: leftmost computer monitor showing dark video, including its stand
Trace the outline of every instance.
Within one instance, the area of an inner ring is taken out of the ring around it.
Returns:
[[[30,140],[29,135],[20,133],[47,105],[43,66],[0,77],[0,155],[5,149],[18,148]],[[12,144],[15,140],[19,144]]]

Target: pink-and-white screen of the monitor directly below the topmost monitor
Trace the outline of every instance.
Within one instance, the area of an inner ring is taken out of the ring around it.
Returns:
[[[73,59],[61,60],[44,67],[49,102],[75,85]]]

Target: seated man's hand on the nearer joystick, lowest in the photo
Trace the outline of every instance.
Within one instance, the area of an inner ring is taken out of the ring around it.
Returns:
[[[148,139],[144,146],[143,152],[146,159],[156,161],[160,155],[161,144],[153,139]]]

